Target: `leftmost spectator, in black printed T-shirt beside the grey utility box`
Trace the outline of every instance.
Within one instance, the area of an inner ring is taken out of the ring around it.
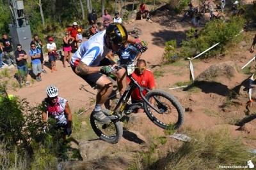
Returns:
[[[13,62],[13,66],[17,66],[16,64],[16,60],[14,57],[14,53],[12,50],[12,38],[8,37],[6,33],[2,34],[2,39],[0,39],[1,43],[3,43],[3,51],[4,51],[4,56],[6,57],[7,61],[8,61],[8,66],[12,65]],[[11,59],[10,56],[11,55]]]

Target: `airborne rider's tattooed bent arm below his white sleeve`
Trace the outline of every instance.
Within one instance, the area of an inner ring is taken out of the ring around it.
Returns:
[[[87,75],[92,73],[99,73],[100,67],[90,67],[84,64],[84,62],[80,61],[79,64],[76,66],[76,74],[80,75]]]

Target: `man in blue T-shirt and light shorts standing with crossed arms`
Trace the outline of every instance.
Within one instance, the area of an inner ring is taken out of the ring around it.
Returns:
[[[40,60],[41,52],[38,48],[36,48],[35,43],[31,43],[30,46],[31,46],[31,49],[29,50],[29,55],[31,57],[33,73],[36,76],[36,81],[42,81],[42,78],[41,78],[42,65]]]

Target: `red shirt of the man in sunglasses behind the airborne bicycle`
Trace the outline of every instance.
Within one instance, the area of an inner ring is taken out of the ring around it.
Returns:
[[[156,82],[154,79],[154,74],[151,71],[145,69],[143,74],[138,74],[136,71],[132,73],[132,77],[138,81],[141,87],[145,87],[147,89],[152,89],[152,87],[156,86]],[[128,82],[131,80],[128,79]],[[142,94],[145,96],[147,94],[147,90],[143,90]],[[134,89],[132,92],[132,98],[136,100],[142,100],[140,97],[140,90],[138,88]]]

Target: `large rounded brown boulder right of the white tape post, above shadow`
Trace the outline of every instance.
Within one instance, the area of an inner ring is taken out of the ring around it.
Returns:
[[[230,80],[237,74],[236,65],[232,61],[221,62],[214,64],[209,69],[199,74],[195,81],[220,81]]]

